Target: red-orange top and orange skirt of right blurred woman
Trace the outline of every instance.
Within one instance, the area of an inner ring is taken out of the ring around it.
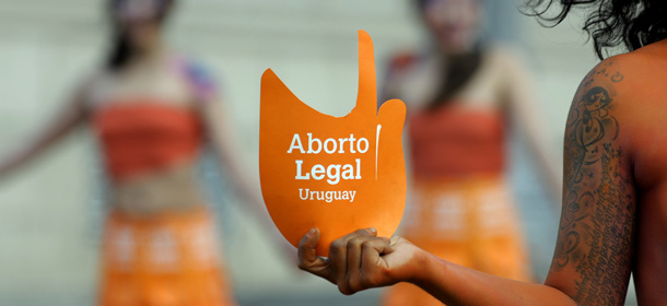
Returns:
[[[410,115],[413,186],[402,236],[450,262],[529,281],[514,201],[504,178],[505,120],[501,111],[444,105]],[[400,283],[388,306],[442,305]]]

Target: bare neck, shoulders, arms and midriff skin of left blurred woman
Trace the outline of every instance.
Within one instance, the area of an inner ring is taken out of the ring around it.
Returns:
[[[136,20],[116,17],[114,25],[127,34],[134,50],[128,64],[118,71],[101,71],[82,84],[43,132],[13,155],[0,161],[0,181],[48,152],[72,131],[90,125],[100,108],[112,106],[110,103],[131,103],[126,101],[136,96],[155,96],[166,106],[199,115],[206,137],[221,164],[225,165],[224,172],[235,178],[237,190],[254,204],[255,212],[268,219],[258,190],[251,187],[256,184],[250,184],[239,167],[239,156],[232,149],[235,142],[232,128],[222,117],[223,104],[214,101],[215,97],[211,97],[212,101],[198,101],[198,95],[185,85],[183,76],[174,73],[171,66],[173,57],[162,42],[161,24],[142,16]],[[113,204],[134,215],[197,209],[206,201],[199,192],[195,166],[196,161],[177,161],[164,169],[114,181],[110,186]]]

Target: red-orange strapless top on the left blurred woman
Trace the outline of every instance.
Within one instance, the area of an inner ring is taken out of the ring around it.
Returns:
[[[93,127],[115,180],[194,158],[203,137],[195,111],[156,102],[105,106]]]

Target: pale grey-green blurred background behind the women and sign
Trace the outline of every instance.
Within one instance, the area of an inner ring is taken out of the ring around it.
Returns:
[[[108,42],[105,2],[0,0],[0,156],[34,134],[101,64]],[[543,28],[518,12],[520,1],[485,2],[484,36],[513,45],[530,68],[549,141],[560,151],[572,95],[597,62],[578,30],[582,21],[574,16]],[[425,42],[408,0],[186,0],[179,1],[167,36],[175,49],[213,71],[226,104],[224,118],[233,123],[244,166],[258,184],[261,73],[273,69],[302,101],[342,116],[356,96],[356,30],[374,39],[381,83],[393,54]],[[92,305],[95,299],[102,191],[94,142],[80,136],[0,185],[0,305]],[[542,281],[560,211],[538,183],[525,145],[510,141],[511,179]],[[379,291],[347,297],[297,271],[243,203],[231,192],[213,193],[241,305],[376,305]]]

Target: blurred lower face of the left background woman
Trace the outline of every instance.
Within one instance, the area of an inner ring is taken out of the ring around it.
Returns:
[[[148,48],[160,34],[160,0],[118,1],[114,8],[116,26],[137,49]]]

